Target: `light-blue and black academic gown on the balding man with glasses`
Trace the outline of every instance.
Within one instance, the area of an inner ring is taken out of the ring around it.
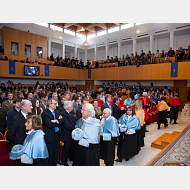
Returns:
[[[115,142],[116,138],[120,135],[117,119],[113,116],[110,116],[106,120],[103,118],[101,132],[103,135],[105,133],[110,134],[111,139],[106,141],[103,139],[103,136],[101,136],[100,158],[104,160],[106,166],[113,166],[115,158]]]

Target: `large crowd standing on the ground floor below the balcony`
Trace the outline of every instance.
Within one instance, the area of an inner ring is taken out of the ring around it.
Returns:
[[[168,126],[167,117],[170,124],[177,123],[181,105],[178,92],[169,92],[167,86],[160,91],[153,83],[141,89],[139,81],[131,88],[122,82],[107,83],[94,92],[61,82],[40,85],[39,81],[29,90],[9,80],[0,89],[0,132],[8,129],[7,149],[24,146],[17,165],[68,166],[69,159],[74,166],[98,166],[101,158],[106,166],[113,166],[114,161],[128,161],[145,146],[149,107],[157,105],[160,129],[162,123]],[[73,136],[76,129],[80,138]],[[64,145],[58,159],[60,141]]]

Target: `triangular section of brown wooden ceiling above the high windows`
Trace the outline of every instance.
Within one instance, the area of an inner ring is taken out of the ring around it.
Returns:
[[[88,36],[125,23],[49,23]],[[82,27],[84,31],[81,31]]]

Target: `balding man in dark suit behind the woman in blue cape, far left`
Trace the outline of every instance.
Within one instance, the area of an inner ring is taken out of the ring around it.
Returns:
[[[29,100],[22,100],[20,103],[20,111],[11,119],[9,130],[7,132],[7,140],[9,141],[7,149],[11,151],[16,144],[23,144],[26,138],[26,118],[31,113],[32,103]],[[21,165],[17,160],[17,165]]]

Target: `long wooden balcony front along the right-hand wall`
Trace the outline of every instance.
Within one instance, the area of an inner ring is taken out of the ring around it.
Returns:
[[[189,80],[190,62],[178,63],[178,77],[171,77],[171,63],[99,68],[89,80]],[[88,80],[88,79],[87,79]]]

